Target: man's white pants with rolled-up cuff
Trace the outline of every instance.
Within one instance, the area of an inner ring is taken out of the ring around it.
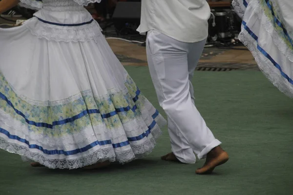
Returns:
[[[194,105],[191,79],[206,40],[180,42],[157,31],[146,39],[148,67],[160,106],[168,117],[168,132],[174,155],[183,163],[205,158],[221,144]]]

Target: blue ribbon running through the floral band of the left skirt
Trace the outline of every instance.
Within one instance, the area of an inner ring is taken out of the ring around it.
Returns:
[[[133,98],[134,102],[136,102],[138,100],[138,96],[140,95],[140,93],[141,93],[141,91],[139,89],[137,89],[136,96]],[[101,114],[100,110],[91,109],[91,110],[84,110],[80,114],[78,114],[78,115],[76,115],[74,117],[71,117],[71,118],[66,118],[66,119],[63,119],[63,120],[54,121],[52,124],[48,124],[48,123],[44,123],[44,122],[35,122],[35,121],[28,120],[25,117],[25,115],[21,111],[17,110],[14,107],[14,105],[12,104],[12,102],[4,94],[2,94],[1,92],[0,92],[0,98],[2,98],[4,101],[6,101],[7,104],[9,106],[11,106],[18,115],[23,117],[27,124],[34,125],[36,127],[45,127],[45,128],[48,128],[48,129],[53,129],[53,127],[57,126],[57,125],[63,125],[63,124],[69,123],[69,122],[73,122],[73,121],[75,121],[75,120],[77,120],[77,119],[79,119],[81,117],[84,117],[86,115],[89,115],[89,114]],[[101,117],[102,118],[109,118],[109,117],[113,117],[113,116],[117,115],[118,113],[127,112],[129,110],[132,110],[133,112],[135,112],[136,109],[137,109],[136,105],[134,105],[132,108],[130,108],[130,106],[127,106],[127,107],[124,107],[124,108],[115,108],[115,111],[112,111],[112,112],[106,113],[106,114],[101,114]]]

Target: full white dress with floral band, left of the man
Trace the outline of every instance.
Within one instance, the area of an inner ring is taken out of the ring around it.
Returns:
[[[0,29],[0,148],[49,168],[74,169],[147,155],[166,120],[143,96],[83,5],[38,8]]]

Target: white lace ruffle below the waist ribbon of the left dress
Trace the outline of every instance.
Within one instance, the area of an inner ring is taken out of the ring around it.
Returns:
[[[63,42],[84,42],[88,40],[100,39],[103,36],[102,29],[98,22],[94,20],[90,24],[83,26],[57,26],[39,21],[32,18],[24,22],[23,26],[39,39],[47,39]]]

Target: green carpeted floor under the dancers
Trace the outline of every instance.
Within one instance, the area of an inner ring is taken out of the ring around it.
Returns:
[[[147,67],[126,67],[162,112]],[[261,72],[196,72],[196,105],[230,161],[211,176],[193,165],[164,162],[167,129],[150,156],[102,171],[32,168],[0,151],[0,195],[291,195],[293,100]]]

